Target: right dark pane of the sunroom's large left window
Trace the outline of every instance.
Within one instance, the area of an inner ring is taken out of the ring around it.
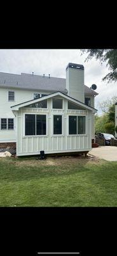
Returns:
[[[46,115],[36,115],[36,135],[46,135]]]

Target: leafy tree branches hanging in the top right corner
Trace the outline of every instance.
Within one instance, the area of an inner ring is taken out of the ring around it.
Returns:
[[[111,72],[103,77],[102,81],[107,80],[107,83],[117,81],[117,49],[86,49],[81,50],[81,52],[82,54],[88,53],[85,61],[91,60],[93,57],[99,60],[101,64],[107,61],[107,66]]]

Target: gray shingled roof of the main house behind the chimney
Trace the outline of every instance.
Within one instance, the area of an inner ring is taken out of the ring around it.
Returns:
[[[65,79],[59,77],[38,76],[32,74],[21,73],[9,74],[0,72],[0,86],[1,87],[12,87],[22,88],[26,90],[46,90],[52,92],[63,92],[67,93],[65,89]],[[85,93],[90,95],[97,95],[98,93],[85,86]]]

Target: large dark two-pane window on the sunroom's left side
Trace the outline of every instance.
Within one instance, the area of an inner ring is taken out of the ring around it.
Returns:
[[[46,115],[25,115],[25,135],[46,135]]]

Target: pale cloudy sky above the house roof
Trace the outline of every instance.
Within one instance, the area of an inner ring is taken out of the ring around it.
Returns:
[[[99,115],[99,102],[117,96],[117,84],[102,82],[109,69],[106,63],[100,65],[94,58],[85,62],[87,54],[81,56],[79,49],[0,49],[0,72],[13,74],[28,73],[65,78],[65,68],[69,62],[82,64],[85,67],[85,84],[97,85],[95,108]]]

